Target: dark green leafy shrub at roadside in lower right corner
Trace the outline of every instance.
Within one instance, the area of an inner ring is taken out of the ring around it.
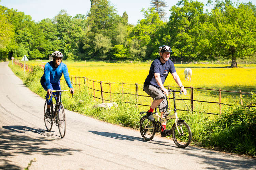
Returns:
[[[256,155],[256,95],[246,105],[234,104],[209,124],[211,133],[204,145],[233,151],[240,154]]]

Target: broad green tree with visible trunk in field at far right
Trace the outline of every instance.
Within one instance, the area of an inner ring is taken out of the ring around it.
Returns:
[[[244,4],[212,11],[204,24],[209,52],[215,57],[231,59],[231,68],[236,67],[236,58],[253,55],[256,50],[256,18],[253,10]]]

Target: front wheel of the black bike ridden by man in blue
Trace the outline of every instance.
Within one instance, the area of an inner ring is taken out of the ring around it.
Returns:
[[[60,137],[63,138],[66,134],[66,116],[64,106],[62,103],[59,104],[58,120],[57,120]]]

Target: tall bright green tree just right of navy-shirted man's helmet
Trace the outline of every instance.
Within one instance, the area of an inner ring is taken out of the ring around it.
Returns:
[[[162,42],[173,48],[174,58],[181,60],[198,60],[200,53],[196,50],[201,26],[207,19],[203,13],[202,2],[181,0],[171,7],[171,16],[167,23]]]

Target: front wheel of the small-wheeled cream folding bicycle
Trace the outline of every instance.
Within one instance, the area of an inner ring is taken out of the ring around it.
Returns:
[[[172,126],[172,139],[177,147],[186,148],[192,139],[192,133],[189,125],[186,122],[180,121],[178,122],[178,129],[174,123]]]

